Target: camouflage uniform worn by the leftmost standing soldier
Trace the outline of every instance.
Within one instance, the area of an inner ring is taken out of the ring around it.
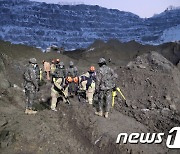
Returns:
[[[32,109],[33,101],[38,90],[35,68],[30,64],[24,73],[24,88],[26,94],[26,109]]]

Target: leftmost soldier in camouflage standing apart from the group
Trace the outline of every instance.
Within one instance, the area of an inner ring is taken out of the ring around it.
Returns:
[[[32,110],[33,101],[36,96],[36,93],[39,89],[35,65],[37,64],[37,60],[35,58],[31,58],[29,60],[29,66],[24,72],[24,88],[26,95],[26,114],[36,114],[37,111]]]

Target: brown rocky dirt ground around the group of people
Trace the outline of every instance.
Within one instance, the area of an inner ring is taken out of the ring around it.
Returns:
[[[180,125],[180,72],[175,66],[180,57],[176,44],[153,47],[96,42],[87,50],[62,55],[0,43],[0,153],[179,153],[166,147],[166,137],[162,144],[116,144],[122,132],[167,135]],[[112,59],[108,64],[117,72],[117,85],[127,99],[118,94],[108,119],[94,115],[95,104],[79,102],[76,97],[71,98],[71,105],[60,100],[57,112],[49,110],[50,82],[42,84],[38,92],[37,115],[24,114],[22,73],[28,58],[36,57],[40,66],[43,59],[59,57],[66,65],[73,60],[83,73],[91,64],[97,67],[102,54]]]

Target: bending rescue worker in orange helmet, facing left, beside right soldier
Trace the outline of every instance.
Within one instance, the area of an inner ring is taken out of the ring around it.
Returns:
[[[87,76],[75,77],[73,80],[78,84],[78,89],[86,93],[86,102],[92,104],[95,92],[95,81]]]

